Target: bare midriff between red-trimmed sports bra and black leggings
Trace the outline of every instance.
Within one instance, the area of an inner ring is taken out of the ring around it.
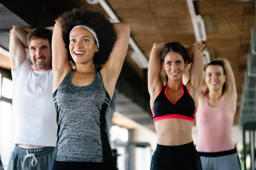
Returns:
[[[179,146],[193,141],[193,122],[185,119],[162,119],[155,122],[157,144]]]

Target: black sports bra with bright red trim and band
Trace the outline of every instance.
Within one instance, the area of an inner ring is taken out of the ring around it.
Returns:
[[[166,95],[167,85],[159,92],[151,109],[154,122],[162,119],[179,118],[194,121],[195,102],[186,86],[182,85],[182,95],[173,103]]]

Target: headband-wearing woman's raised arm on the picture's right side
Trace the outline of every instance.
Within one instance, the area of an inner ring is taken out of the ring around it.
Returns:
[[[120,75],[124,59],[129,45],[130,26],[124,22],[113,23],[117,40],[113,46],[109,58],[101,69],[103,82],[106,90],[112,97],[115,91],[115,85]]]

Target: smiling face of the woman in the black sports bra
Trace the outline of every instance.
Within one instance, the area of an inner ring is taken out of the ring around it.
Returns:
[[[187,63],[184,62],[180,53],[168,52],[162,64],[168,79],[182,80]]]

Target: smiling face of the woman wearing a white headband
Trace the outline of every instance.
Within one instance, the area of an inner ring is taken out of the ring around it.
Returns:
[[[69,49],[76,64],[93,62],[94,53],[99,51],[94,36],[83,27],[77,27],[70,34]]]

